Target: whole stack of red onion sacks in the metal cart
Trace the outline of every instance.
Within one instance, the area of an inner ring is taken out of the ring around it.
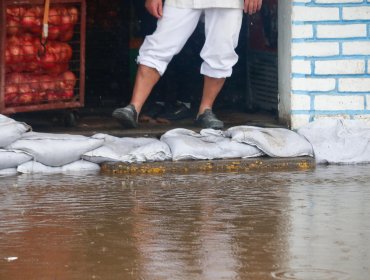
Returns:
[[[6,9],[5,87],[6,106],[70,101],[76,76],[69,71],[78,10],[55,5],[49,10],[49,34],[41,44],[44,8],[8,6]]]

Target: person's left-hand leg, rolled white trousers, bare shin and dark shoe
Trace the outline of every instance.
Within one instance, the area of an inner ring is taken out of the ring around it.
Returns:
[[[145,38],[140,48],[137,59],[139,68],[130,106],[116,109],[113,117],[126,126],[137,126],[137,120],[132,121],[133,115],[137,118],[154,85],[166,71],[168,63],[181,51],[195,30],[200,15],[201,10],[164,7],[156,31]]]

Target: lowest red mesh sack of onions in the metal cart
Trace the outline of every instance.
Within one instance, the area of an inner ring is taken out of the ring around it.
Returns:
[[[71,100],[76,76],[66,71],[58,76],[11,73],[6,75],[5,105],[30,105]]]

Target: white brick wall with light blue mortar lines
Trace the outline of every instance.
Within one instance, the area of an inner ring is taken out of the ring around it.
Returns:
[[[370,0],[293,0],[291,12],[291,127],[370,120]]]

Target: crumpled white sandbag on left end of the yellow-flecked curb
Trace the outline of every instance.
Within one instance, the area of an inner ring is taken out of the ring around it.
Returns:
[[[103,146],[85,153],[82,158],[95,163],[107,161],[147,162],[171,159],[171,151],[166,143],[154,138],[118,138],[107,134],[96,134],[103,139]]]

